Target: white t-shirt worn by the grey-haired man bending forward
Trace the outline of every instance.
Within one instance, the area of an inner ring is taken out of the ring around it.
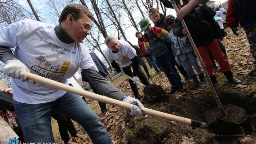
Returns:
[[[129,43],[124,40],[118,40],[117,42],[120,46],[120,51],[113,53],[111,49],[107,48],[105,56],[110,63],[115,60],[121,68],[124,68],[132,64],[131,59],[136,56],[136,51]]]

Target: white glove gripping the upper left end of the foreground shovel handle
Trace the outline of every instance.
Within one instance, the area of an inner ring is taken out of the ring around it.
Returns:
[[[27,79],[27,72],[30,72],[29,69],[20,60],[14,59],[5,61],[5,75],[21,79],[22,82],[25,82]]]

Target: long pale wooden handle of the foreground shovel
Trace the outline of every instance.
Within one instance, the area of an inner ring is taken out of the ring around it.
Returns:
[[[117,107],[120,107],[120,108],[131,109],[134,106],[133,104],[130,104],[130,103],[127,103],[127,102],[111,99],[111,98],[108,98],[108,97],[105,97],[105,96],[102,96],[102,95],[99,95],[99,94],[95,94],[95,93],[92,93],[92,92],[87,92],[87,91],[84,91],[82,89],[72,87],[72,86],[69,86],[67,84],[62,84],[60,82],[56,82],[54,80],[45,78],[43,76],[38,76],[38,75],[29,73],[29,72],[27,72],[27,78],[34,81],[34,82],[45,84],[47,86],[50,86],[50,87],[53,87],[53,88],[56,88],[56,89],[60,89],[60,90],[63,90],[63,91],[74,93],[74,94],[77,94],[77,95],[80,95],[80,96],[83,96],[83,97],[86,97],[86,98],[90,98],[90,99],[93,99],[93,100],[97,100],[97,101],[100,101],[100,102],[108,103],[108,104],[111,104],[111,105],[114,105],[114,106],[117,106]],[[158,117],[158,118],[163,118],[163,119],[166,119],[166,120],[175,121],[175,122],[182,123],[182,124],[187,124],[187,125],[191,124],[191,119],[188,119],[188,118],[185,118],[185,117],[180,117],[180,116],[175,116],[175,115],[171,115],[171,114],[167,114],[167,113],[163,113],[163,112],[156,111],[156,110],[149,109],[149,108],[145,108],[145,111],[143,111],[143,113],[147,114],[147,115],[150,115],[150,116],[155,116],[155,117]]]

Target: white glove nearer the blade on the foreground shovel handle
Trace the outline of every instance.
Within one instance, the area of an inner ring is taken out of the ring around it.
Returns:
[[[142,105],[142,103],[140,102],[140,100],[134,99],[134,98],[130,97],[129,95],[127,95],[123,98],[122,101],[137,105],[140,108],[140,109],[137,109],[135,106],[133,106],[131,108],[131,110],[127,109],[126,111],[129,115],[140,116],[140,117],[142,117],[142,116],[147,117],[148,116],[148,115],[142,113],[142,111],[145,111],[145,108]]]

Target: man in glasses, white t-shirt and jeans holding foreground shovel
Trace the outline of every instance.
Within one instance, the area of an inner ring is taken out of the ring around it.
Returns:
[[[25,142],[54,142],[52,106],[83,126],[93,143],[112,143],[100,118],[76,94],[27,80],[27,72],[60,83],[81,68],[98,90],[117,100],[138,103],[129,114],[143,116],[139,100],[116,89],[94,68],[88,48],[82,43],[90,34],[93,15],[81,4],[68,4],[57,26],[35,20],[21,20],[0,29],[0,60],[4,73],[12,78],[15,112]],[[9,49],[15,47],[14,55]],[[46,64],[47,63],[47,64]],[[21,79],[21,80],[20,80]]]

